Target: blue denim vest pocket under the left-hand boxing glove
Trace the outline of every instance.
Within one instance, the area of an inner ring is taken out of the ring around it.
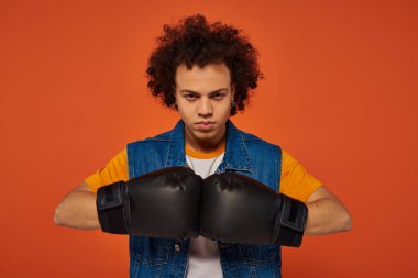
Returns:
[[[169,249],[173,240],[153,238],[146,236],[131,236],[131,255],[138,263],[156,266],[168,263]]]

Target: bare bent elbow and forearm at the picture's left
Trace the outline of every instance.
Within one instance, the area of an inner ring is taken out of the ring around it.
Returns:
[[[80,230],[100,229],[96,193],[86,182],[73,189],[55,209],[54,223]]]

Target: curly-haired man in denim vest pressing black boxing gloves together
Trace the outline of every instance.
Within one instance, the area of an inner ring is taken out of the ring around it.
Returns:
[[[229,120],[262,77],[240,31],[199,14],[164,31],[148,88],[182,120],[86,178],[55,223],[130,234],[131,277],[280,277],[280,245],[351,230],[296,159]]]

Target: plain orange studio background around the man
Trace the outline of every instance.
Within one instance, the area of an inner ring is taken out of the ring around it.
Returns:
[[[282,145],[349,208],[351,233],[284,248],[284,277],[417,275],[416,1],[2,1],[0,277],[128,277],[128,237],[53,224],[125,143],[178,116],[144,71],[164,23],[245,31],[266,79],[244,131]]]

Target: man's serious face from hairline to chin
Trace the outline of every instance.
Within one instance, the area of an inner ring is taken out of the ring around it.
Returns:
[[[186,140],[194,143],[215,141],[226,133],[230,116],[232,90],[231,76],[224,64],[177,67],[176,103],[185,122]]]

